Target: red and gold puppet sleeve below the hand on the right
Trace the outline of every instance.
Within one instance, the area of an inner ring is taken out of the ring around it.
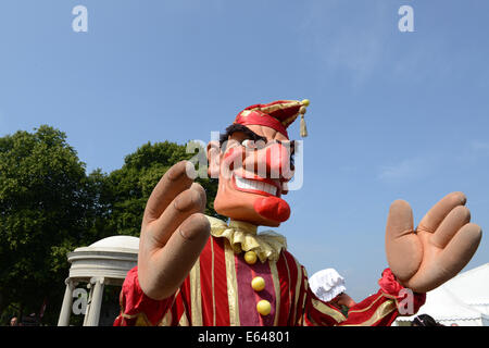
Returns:
[[[389,326],[399,315],[413,315],[425,303],[426,295],[405,289],[390,269],[378,281],[380,289],[350,308],[348,318],[334,306],[323,302],[308,287],[304,325]]]

